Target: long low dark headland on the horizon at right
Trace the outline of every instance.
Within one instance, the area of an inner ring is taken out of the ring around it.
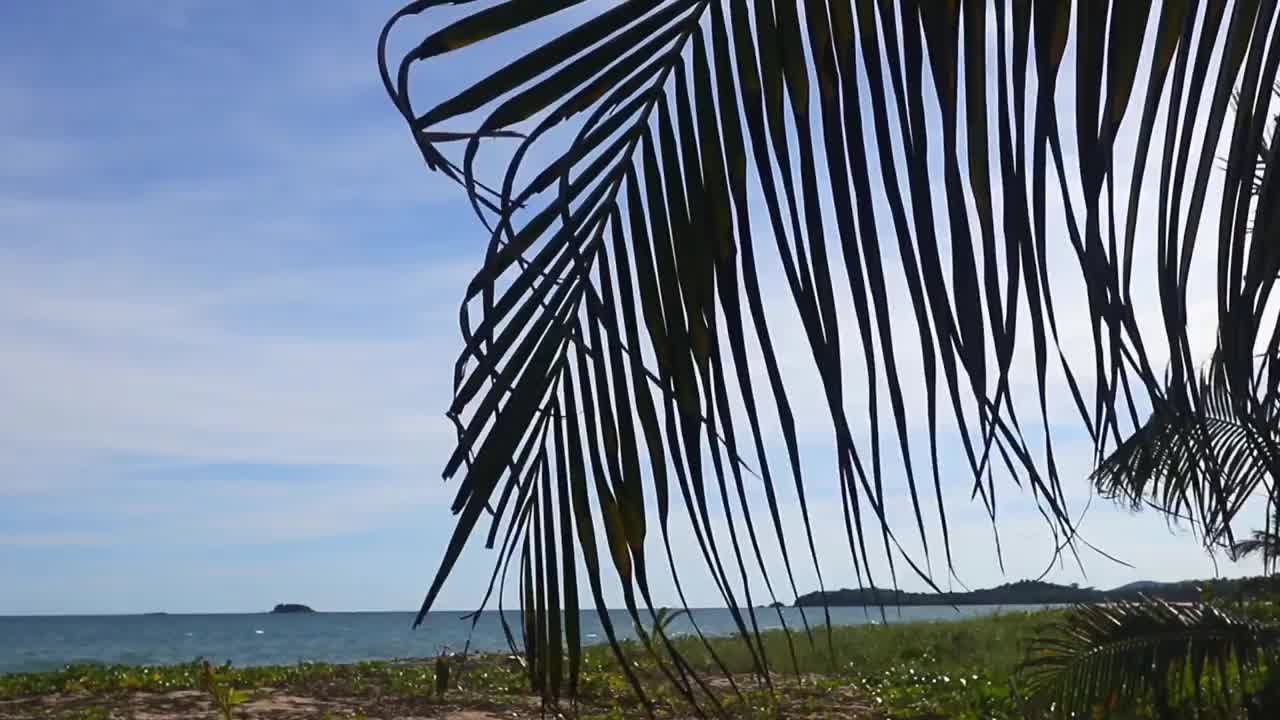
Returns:
[[[1137,600],[1140,596],[1166,600],[1169,602],[1193,602],[1201,600],[1201,589],[1210,588],[1216,596],[1231,596],[1249,592],[1258,579],[1238,580],[1181,580],[1176,583],[1156,583],[1143,580],[1129,583],[1110,591],[1082,588],[1079,585],[1059,585],[1039,580],[1018,580],[995,588],[970,592],[920,593],[882,588],[838,589],[826,593],[827,605],[841,606],[911,606],[911,605],[1071,605],[1087,602],[1114,602]],[[823,593],[812,592],[796,598],[797,607],[813,607],[823,603]]]

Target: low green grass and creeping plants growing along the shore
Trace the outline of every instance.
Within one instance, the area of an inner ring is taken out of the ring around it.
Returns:
[[[1044,612],[1011,612],[947,623],[847,626],[833,629],[829,643],[824,630],[815,630],[812,644],[803,633],[794,633],[795,666],[786,637],[767,633],[763,644],[773,670],[773,692],[753,679],[751,655],[741,639],[714,638],[710,646],[741,693],[733,693],[724,682],[712,684],[712,692],[739,717],[1021,717],[1010,682],[1023,659],[1025,639],[1048,620],[1051,615]],[[710,653],[696,638],[673,642],[692,667],[707,676],[714,673]],[[686,708],[671,684],[662,682],[653,660],[641,657],[635,643],[628,643],[627,651],[634,671],[653,688],[650,697],[660,714]],[[431,661],[224,666],[218,669],[218,682],[248,701],[271,692],[333,701],[325,708],[332,717],[353,717],[357,712],[379,717],[397,712],[434,715],[431,711],[442,705],[499,707],[536,716],[538,701],[529,692],[518,660],[489,655],[454,664],[444,698],[436,692]],[[41,697],[79,698],[65,712],[55,714],[67,719],[127,717],[120,711],[127,698],[202,688],[207,682],[198,661],[169,666],[74,665],[51,673],[0,675],[0,701],[17,701],[19,707]],[[591,647],[584,653],[580,698],[580,715],[586,719],[643,715],[607,647]],[[196,716],[212,716],[210,707],[205,701],[204,715]],[[248,706],[236,712],[237,717],[256,717]],[[3,708],[0,715],[9,716]]]

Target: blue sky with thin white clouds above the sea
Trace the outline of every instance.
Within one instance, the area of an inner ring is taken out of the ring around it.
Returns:
[[[397,6],[0,8],[0,615],[421,602],[452,530],[457,304],[488,236],[381,90]],[[1080,507],[1088,451],[1065,447]],[[814,483],[819,541],[844,543]],[[1004,571],[986,516],[952,519],[965,584],[1044,569],[1033,507],[1004,511]],[[1100,500],[1083,529],[1133,568],[1085,553],[1048,579],[1258,570]],[[490,557],[468,550],[439,606],[477,602]]]

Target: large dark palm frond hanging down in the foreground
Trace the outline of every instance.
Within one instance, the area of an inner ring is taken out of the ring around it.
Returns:
[[[428,28],[396,63],[419,15]],[[686,597],[672,523],[687,521],[749,643],[753,589],[785,593],[762,544],[792,596],[801,562],[822,585],[815,456],[835,468],[859,585],[883,584],[882,568],[933,584],[933,557],[952,568],[940,438],[959,438],[993,524],[1016,483],[1073,547],[1055,378],[1100,460],[1125,442],[1138,457],[1134,433],[1158,428],[1148,409],[1261,427],[1280,389],[1280,182],[1274,146],[1260,152],[1275,15],[1275,0],[404,6],[379,38],[383,82],[489,236],[448,413],[456,529],[419,620],[483,534],[498,547],[490,592],[516,561],[535,687],[572,694],[579,573],[621,657],[607,587],[637,626],[655,616],[654,562]],[[500,58],[492,73],[457,92],[431,82],[483,64],[475,47]],[[1188,329],[1190,269],[1206,264],[1225,406],[1198,392]],[[829,450],[801,442],[797,416],[814,414]],[[1240,480],[1203,471],[1169,489],[1140,484],[1137,461],[1115,468],[1117,488],[1230,536]],[[895,484],[915,541],[891,519]],[[780,507],[791,492],[799,551]]]

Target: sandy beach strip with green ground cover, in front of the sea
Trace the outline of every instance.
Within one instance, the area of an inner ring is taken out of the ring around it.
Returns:
[[[730,717],[1019,717],[1010,679],[1021,646],[1052,612],[1007,612],[955,621],[800,628],[740,637],[672,638],[681,664],[698,680],[692,701]],[[654,660],[623,641],[627,665],[607,646],[584,648],[576,680],[556,675],[561,694],[576,684],[577,716],[586,720],[692,717],[690,697],[666,675],[676,667],[659,650]],[[768,665],[768,678],[756,670]],[[225,717],[221,697],[234,697],[238,720],[490,720],[548,716],[530,688],[522,657],[453,655],[440,683],[440,661],[425,657],[352,664],[264,666],[76,665],[0,675],[5,720],[179,720]],[[641,701],[626,671],[645,692]],[[545,666],[544,666],[545,669]],[[678,674],[678,673],[677,673]],[[543,675],[545,676],[545,674]],[[686,678],[692,678],[686,674]],[[210,687],[212,685],[212,687]],[[443,693],[442,693],[443,685]],[[562,701],[568,712],[573,706]]]

